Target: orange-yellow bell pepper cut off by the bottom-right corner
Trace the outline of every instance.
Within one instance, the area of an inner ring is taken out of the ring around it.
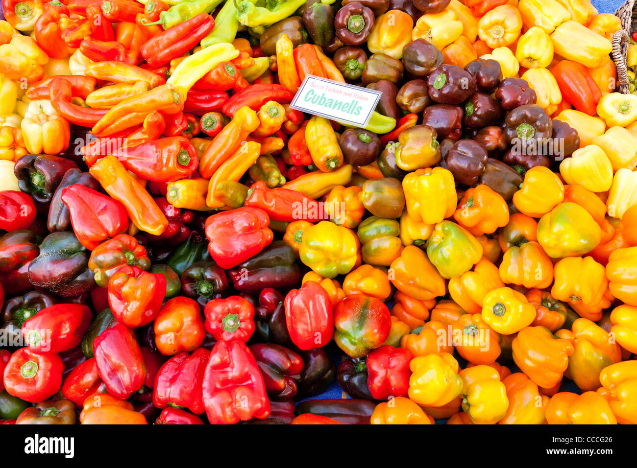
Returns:
[[[637,424],[637,361],[617,362],[609,365],[599,381],[603,388],[598,393],[610,404],[620,424]]]

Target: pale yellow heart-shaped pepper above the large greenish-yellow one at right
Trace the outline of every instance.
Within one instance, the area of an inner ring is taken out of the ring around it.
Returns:
[[[562,160],[559,171],[569,185],[581,185],[591,192],[605,192],[613,182],[613,165],[597,145],[575,150]]]

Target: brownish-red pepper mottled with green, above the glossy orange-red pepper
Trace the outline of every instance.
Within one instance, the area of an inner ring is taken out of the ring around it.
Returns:
[[[142,270],[150,268],[146,248],[128,234],[117,234],[98,245],[90,254],[89,269],[94,273],[98,286],[108,285],[113,273],[123,266]]]

